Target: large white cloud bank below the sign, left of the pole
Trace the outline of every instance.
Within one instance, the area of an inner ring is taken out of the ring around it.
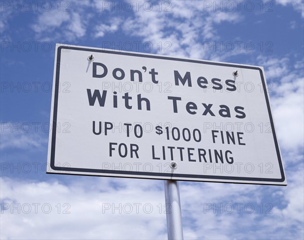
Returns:
[[[1,239],[166,238],[166,215],[158,207],[164,206],[164,194],[148,187],[147,180],[131,180],[134,187],[129,182],[119,189],[107,178],[84,179],[88,185],[81,181],[64,185],[2,178]],[[11,204],[20,206],[19,214]]]

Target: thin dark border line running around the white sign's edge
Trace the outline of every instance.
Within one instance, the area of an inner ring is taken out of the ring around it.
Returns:
[[[55,166],[55,146],[56,146],[56,126],[57,126],[57,109],[58,109],[58,90],[59,90],[59,74],[60,74],[60,57],[61,57],[61,50],[68,49],[68,50],[78,50],[78,51],[87,51],[87,52],[97,52],[97,53],[105,53],[105,54],[117,54],[117,55],[126,55],[126,56],[133,56],[133,57],[141,57],[141,58],[153,58],[153,59],[163,59],[163,60],[171,60],[171,61],[180,61],[180,62],[190,62],[190,63],[200,63],[200,64],[207,64],[207,65],[216,65],[216,66],[225,66],[225,67],[236,67],[236,68],[245,68],[245,69],[254,69],[260,72],[261,82],[263,85],[263,91],[265,95],[265,100],[267,104],[267,109],[269,113],[271,128],[273,132],[273,137],[275,141],[275,147],[277,152],[277,157],[280,166],[281,178],[258,178],[258,177],[231,177],[231,176],[212,176],[212,175],[193,175],[193,174],[177,174],[177,173],[155,173],[155,172],[133,172],[133,171],[120,171],[115,170],[115,174],[113,174],[113,170],[105,170],[105,169],[88,169],[88,168],[70,168],[70,167],[56,167]],[[227,64],[227,63],[213,63],[213,62],[205,62],[200,60],[192,60],[192,59],[179,59],[179,58],[172,58],[166,56],[158,56],[158,55],[143,55],[137,53],[125,53],[125,52],[114,52],[114,51],[107,51],[107,50],[99,50],[99,49],[89,49],[87,47],[75,47],[75,46],[59,46],[57,49],[57,60],[56,60],[56,77],[55,77],[55,94],[54,94],[54,109],[53,109],[53,129],[52,129],[52,143],[51,143],[51,160],[50,160],[50,167],[56,171],[67,171],[67,172],[80,172],[80,174],[73,174],[73,173],[66,173],[62,172],[60,174],[69,174],[69,175],[90,175],[90,176],[108,176],[108,175],[94,175],[93,173],[105,173],[105,174],[113,174],[113,177],[122,177],[119,174],[130,175],[129,177],[133,178],[147,178],[147,179],[163,179],[168,180],[168,177],[174,179],[174,177],[182,177],[182,178],[191,178],[188,181],[213,181],[212,179],[218,180],[217,182],[227,182],[221,180],[237,180],[237,181],[253,181],[254,182],[265,182],[264,184],[271,184],[267,182],[284,182],[285,175],[282,165],[281,154],[279,150],[278,140],[275,132],[273,117],[271,114],[270,103],[267,94],[267,88],[265,86],[265,81],[263,77],[263,72],[258,67],[252,66],[241,66],[237,64]],[[91,174],[83,174],[85,172]],[[52,172],[47,172],[52,173]],[[54,172],[57,174],[57,172]],[[118,174],[118,175],[116,175]],[[144,177],[137,177],[137,176],[144,176]],[[153,176],[158,177],[167,177],[167,178],[154,178]],[[123,176],[127,177],[127,176]],[[196,180],[197,179],[197,180]],[[186,179],[177,179],[177,180],[186,180]],[[235,182],[235,183],[242,183],[242,182]],[[261,184],[261,183],[257,183]],[[282,184],[283,185],[283,184]]]

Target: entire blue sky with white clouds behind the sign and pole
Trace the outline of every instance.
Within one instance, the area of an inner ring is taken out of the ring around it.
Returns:
[[[167,237],[162,180],[45,173],[55,43],[263,66],[288,186],[180,182],[184,238],[304,238],[303,1],[0,3],[1,239]]]

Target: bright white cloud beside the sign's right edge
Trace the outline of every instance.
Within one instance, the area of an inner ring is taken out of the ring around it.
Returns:
[[[258,61],[272,86],[269,90],[280,146],[287,151],[300,150],[304,146],[304,79],[300,63],[292,66],[286,57],[258,57]]]

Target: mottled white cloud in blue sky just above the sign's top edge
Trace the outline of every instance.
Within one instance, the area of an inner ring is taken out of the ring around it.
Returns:
[[[125,21],[124,31],[151,41],[154,46],[170,42],[170,52],[155,47],[158,53],[164,55],[174,53],[181,57],[209,59],[212,55],[212,59],[221,58],[221,54],[214,53],[213,48],[204,49],[204,41],[217,40],[216,25],[239,22],[242,20],[240,13],[212,11],[213,8],[206,9],[202,1],[187,1],[187,4],[175,1],[171,4],[170,12],[160,11],[159,8],[149,12],[135,11],[134,16]]]

